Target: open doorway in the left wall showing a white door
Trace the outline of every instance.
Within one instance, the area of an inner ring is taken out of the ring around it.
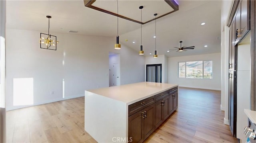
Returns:
[[[120,55],[109,52],[109,87],[120,85]]]

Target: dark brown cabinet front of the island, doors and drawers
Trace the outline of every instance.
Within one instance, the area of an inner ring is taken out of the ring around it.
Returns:
[[[128,106],[128,139],[142,143],[178,108],[178,86]]]

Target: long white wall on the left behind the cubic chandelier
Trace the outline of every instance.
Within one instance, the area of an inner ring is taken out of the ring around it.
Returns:
[[[115,50],[114,38],[51,34],[60,41],[57,51],[40,49],[40,31],[6,29],[6,110],[63,100],[63,79],[64,99],[108,87],[109,52],[120,54],[121,84],[144,81],[145,57],[125,45]],[[32,105],[13,106],[14,78],[33,78]]]

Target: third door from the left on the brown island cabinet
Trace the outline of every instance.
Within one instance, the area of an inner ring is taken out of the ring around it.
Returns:
[[[163,106],[163,100],[159,100],[155,103],[155,129],[161,125],[163,122],[162,119],[162,106]]]

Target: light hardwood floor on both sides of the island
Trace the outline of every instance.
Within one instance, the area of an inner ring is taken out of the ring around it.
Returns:
[[[148,137],[148,143],[237,143],[220,91],[179,88],[178,111]],[[84,131],[84,97],[6,112],[8,143],[94,143]]]

